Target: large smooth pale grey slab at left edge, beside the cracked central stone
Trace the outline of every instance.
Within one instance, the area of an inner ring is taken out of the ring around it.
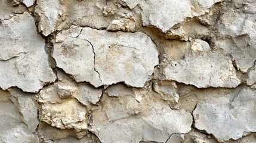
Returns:
[[[48,64],[45,41],[36,32],[29,13],[16,15],[0,25],[0,87],[17,86],[25,92],[38,92],[56,76]]]

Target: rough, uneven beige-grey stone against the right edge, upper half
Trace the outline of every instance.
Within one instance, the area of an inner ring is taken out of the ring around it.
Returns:
[[[243,73],[254,65],[256,60],[256,34],[254,14],[241,13],[238,10],[228,10],[218,21],[217,49],[232,55],[236,66]]]

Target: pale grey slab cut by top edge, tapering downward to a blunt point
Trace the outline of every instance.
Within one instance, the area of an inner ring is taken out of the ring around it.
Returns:
[[[153,26],[167,32],[175,24],[187,17],[199,16],[209,12],[209,8],[220,0],[150,0],[141,2],[143,26]]]

